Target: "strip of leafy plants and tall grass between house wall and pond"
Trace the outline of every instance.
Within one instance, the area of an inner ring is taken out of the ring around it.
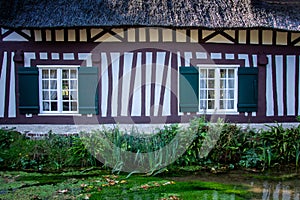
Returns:
[[[186,128],[174,124],[151,135],[134,128],[123,131],[115,127],[82,133],[81,137],[50,132],[41,140],[1,129],[0,149],[2,170],[106,167],[118,173],[125,169],[125,161],[131,159],[134,166],[147,166],[150,174],[180,167],[213,173],[237,168],[263,171],[287,165],[299,168],[300,126],[253,130],[221,120],[210,124],[195,118]],[[134,157],[126,157],[128,154],[122,152],[131,152]]]

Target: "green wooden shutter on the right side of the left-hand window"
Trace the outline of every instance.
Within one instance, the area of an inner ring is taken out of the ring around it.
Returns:
[[[78,70],[79,113],[98,114],[98,68],[80,67]]]

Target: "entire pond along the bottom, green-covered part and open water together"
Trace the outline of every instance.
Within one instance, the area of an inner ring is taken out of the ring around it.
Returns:
[[[300,174],[295,172],[183,174],[127,178],[104,170],[43,174],[0,171],[0,199],[300,199]]]

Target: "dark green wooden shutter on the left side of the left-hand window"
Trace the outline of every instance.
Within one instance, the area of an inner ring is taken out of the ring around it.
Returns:
[[[39,113],[39,72],[36,67],[18,68],[19,111],[21,114]]]

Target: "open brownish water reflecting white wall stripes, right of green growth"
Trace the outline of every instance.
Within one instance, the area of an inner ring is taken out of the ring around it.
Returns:
[[[292,171],[253,173],[233,170],[212,174],[201,172],[190,176],[177,177],[174,181],[205,181],[246,186],[251,199],[300,200],[300,173]],[[221,199],[217,192],[213,199]],[[234,197],[232,199],[235,199]]]

